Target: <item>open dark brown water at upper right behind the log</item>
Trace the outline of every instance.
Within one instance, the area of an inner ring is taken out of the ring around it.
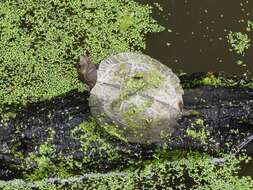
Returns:
[[[159,59],[174,71],[231,74],[253,71],[253,48],[247,50],[245,56],[237,55],[229,51],[226,38],[230,30],[246,33],[247,20],[253,20],[252,0],[139,2],[152,5],[153,17],[172,30],[149,35],[145,53]],[[247,34],[253,36],[252,32]],[[247,67],[238,66],[237,60],[242,60]]]

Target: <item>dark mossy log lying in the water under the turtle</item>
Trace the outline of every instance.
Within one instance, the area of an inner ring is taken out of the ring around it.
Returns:
[[[231,151],[253,134],[253,81],[216,76],[219,84],[211,78],[212,86],[207,77],[181,76],[185,114],[159,144],[128,144],[108,135],[90,118],[87,92],[6,108],[0,123],[0,179],[105,172],[138,164],[164,147]]]

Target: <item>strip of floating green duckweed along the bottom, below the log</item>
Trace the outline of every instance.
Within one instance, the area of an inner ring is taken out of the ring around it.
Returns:
[[[167,152],[165,157],[157,157],[145,161],[140,166],[130,167],[117,175],[117,172],[108,175],[90,175],[82,180],[69,178],[64,183],[50,183],[41,180],[34,183],[24,183],[16,180],[0,182],[3,190],[24,189],[37,187],[39,190],[52,189],[104,189],[104,190],[132,190],[132,189],[168,189],[168,190],[251,190],[253,182],[250,177],[238,177],[241,157],[223,155],[225,162],[217,165],[214,158],[208,154],[198,152],[174,151]],[[168,160],[168,156],[171,160]]]

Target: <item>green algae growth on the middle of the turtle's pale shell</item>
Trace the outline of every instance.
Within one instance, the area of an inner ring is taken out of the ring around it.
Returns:
[[[138,130],[149,127],[153,122],[152,118],[144,115],[144,112],[153,105],[154,100],[145,97],[144,100],[134,102],[131,98],[149,89],[160,87],[165,79],[152,63],[146,65],[146,63],[140,61],[138,64],[140,64],[140,66],[143,64],[143,68],[146,69],[140,71],[136,69],[137,71],[129,74],[126,65],[121,64],[117,72],[123,79],[123,84],[120,89],[119,97],[111,104],[111,109],[120,112],[123,123],[126,125],[125,129],[123,129],[122,126],[117,127],[116,125],[114,125],[114,127],[105,127],[108,133],[114,134],[120,137],[120,139],[124,139],[124,141],[126,141],[124,132],[132,132],[134,135],[141,137],[142,134],[140,134]],[[115,76],[113,80],[116,79],[117,77]],[[122,106],[122,103],[125,106]]]

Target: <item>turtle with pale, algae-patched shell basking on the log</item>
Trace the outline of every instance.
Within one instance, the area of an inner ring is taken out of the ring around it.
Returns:
[[[170,68],[136,52],[113,54],[98,69],[80,57],[91,114],[109,134],[130,143],[160,142],[182,115],[184,91]]]

